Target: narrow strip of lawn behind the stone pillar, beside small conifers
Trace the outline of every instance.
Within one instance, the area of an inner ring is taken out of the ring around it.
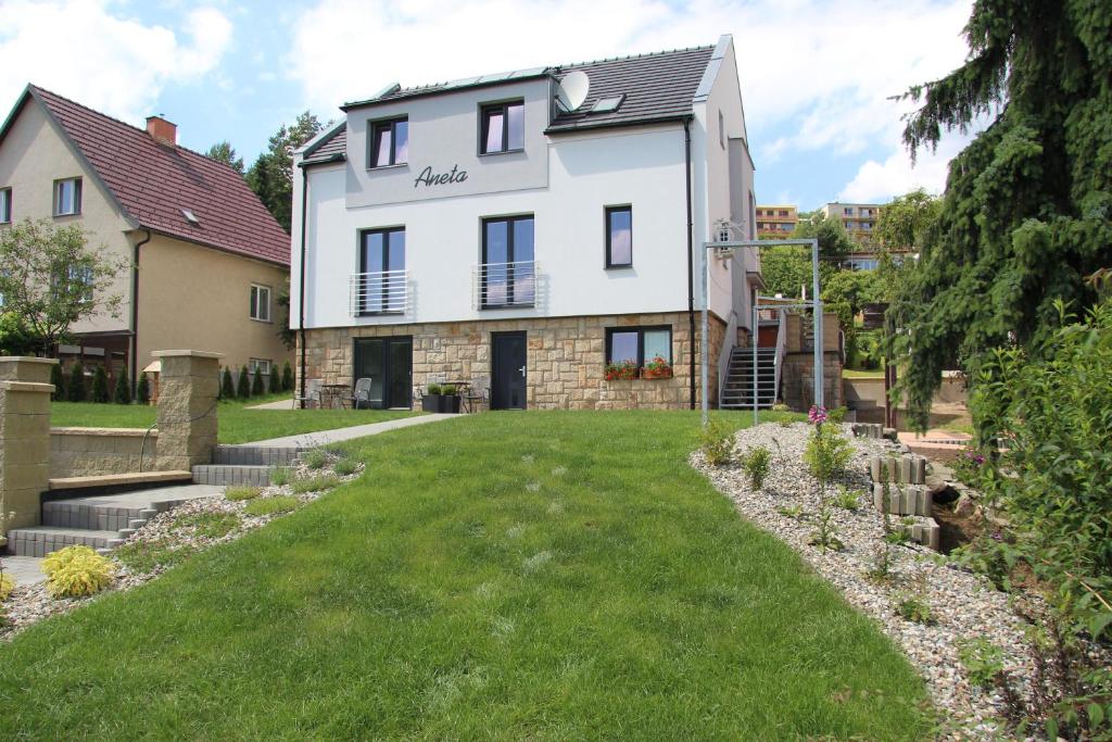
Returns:
[[[407,417],[408,410],[384,409],[248,409],[248,405],[288,399],[274,395],[248,402],[221,402],[217,408],[220,443],[250,443],[285,435],[329,431],[349,425],[381,423]],[[54,402],[50,423],[75,427],[147,427],[155,423],[155,407]]]

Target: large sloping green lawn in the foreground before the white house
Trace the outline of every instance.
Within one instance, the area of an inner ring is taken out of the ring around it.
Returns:
[[[358,481],[0,646],[0,738],[929,735],[893,645],[688,467],[697,421],[351,442]]]

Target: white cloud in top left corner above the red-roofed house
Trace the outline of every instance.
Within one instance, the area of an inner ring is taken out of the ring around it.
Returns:
[[[215,8],[190,10],[176,33],[107,0],[4,0],[3,18],[0,100],[13,102],[34,82],[132,122],[152,112],[166,85],[216,69],[232,32]]]

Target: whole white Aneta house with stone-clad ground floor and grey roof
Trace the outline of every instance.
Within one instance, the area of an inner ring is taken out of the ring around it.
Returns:
[[[568,110],[576,78],[589,88]],[[342,110],[295,155],[301,383],[369,377],[385,407],[457,380],[494,408],[697,404],[703,244],[755,236],[731,37],[391,86]],[[716,402],[759,266],[708,258]],[[671,377],[606,378],[656,356]]]

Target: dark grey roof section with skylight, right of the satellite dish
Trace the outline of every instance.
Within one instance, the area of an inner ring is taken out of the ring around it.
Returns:
[[[575,111],[557,111],[547,131],[651,123],[689,117],[692,100],[713,52],[714,47],[697,47],[566,65],[553,70],[557,78],[576,70],[586,72],[590,79],[590,90],[587,99]],[[599,99],[623,93],[625,100],[616,111],[590,112]]]

